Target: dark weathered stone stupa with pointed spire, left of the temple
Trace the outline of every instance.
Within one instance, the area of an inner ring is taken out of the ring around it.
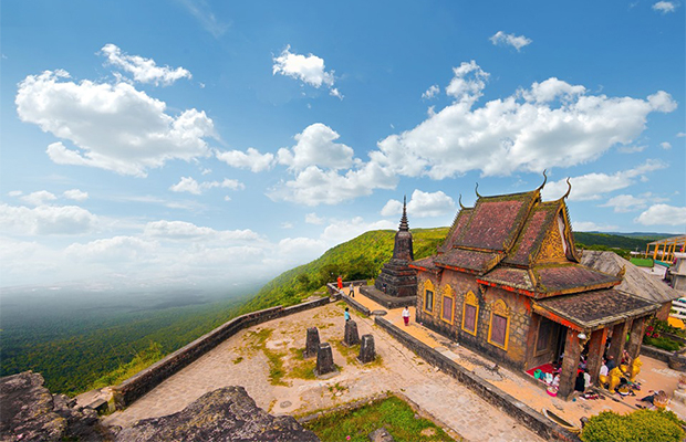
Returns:
[[[403,199],[403,217],[395,233],[393,257],[384,264],[374,287],[364,286],[362,293],[386,308],[415,305],[417,296],[417,271],[414,261],[412,233],[407,223],[407,204]]]

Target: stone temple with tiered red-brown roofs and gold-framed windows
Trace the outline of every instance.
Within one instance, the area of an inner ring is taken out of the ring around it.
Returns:
[[[568,181],[569,182],[569,181]],[[659,304],[620,292],[623,271],[580,264],[565,199],[538,189],[461,204],[438,253],[417,270],[416,320],[517,370],[560,361],[558,396],[574,388],[582,348],[597,381],[607,336],[616,360],[641,351],[646,318]],[[630,335],[630,339],[625,338]],[[524,376],[527,376],[524,373]]]

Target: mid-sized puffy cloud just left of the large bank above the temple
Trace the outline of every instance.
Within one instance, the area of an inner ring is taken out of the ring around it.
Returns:
[[[294,136],[298,141],[295,146],[291,149],[279,149],[279,164],[293,170],[302,170],[309,166],[334,170],[351,167],[354,150],[342,143],[334,143],[340,137],[331,127],[314,123]]]

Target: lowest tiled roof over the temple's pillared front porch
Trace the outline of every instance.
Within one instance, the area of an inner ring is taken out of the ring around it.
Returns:
[[[592,332],[645,316],[658,309],[659,304],[615,290],[601,290],[534,301],[532,307],[533,312],[559,324]]]

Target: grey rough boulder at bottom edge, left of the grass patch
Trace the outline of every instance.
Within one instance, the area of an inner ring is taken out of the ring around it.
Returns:
[[[294,418],[273,417],[257,407],[245,388],[226,387],[204,394],[178,413],[141,420],[123,429],[116,441],[314,442],[319,438]]]

